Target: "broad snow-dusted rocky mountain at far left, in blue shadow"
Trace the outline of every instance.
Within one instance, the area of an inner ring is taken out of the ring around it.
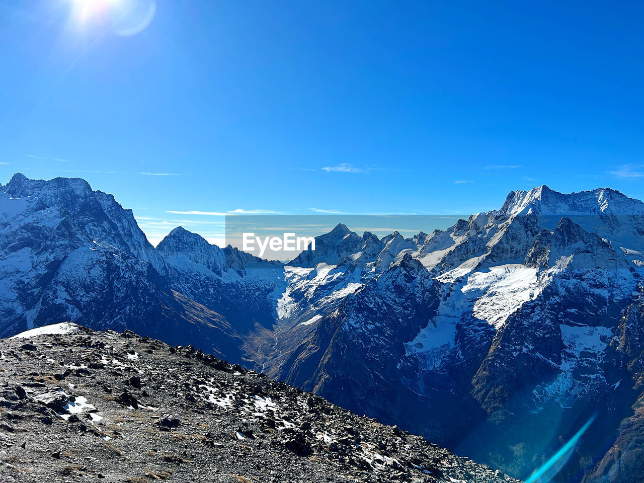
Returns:
[[[168,271],[131,210],[86,181],[17,174],[2,187],[0,336],[71,320],[234,355],[225,317],[173,290]]]

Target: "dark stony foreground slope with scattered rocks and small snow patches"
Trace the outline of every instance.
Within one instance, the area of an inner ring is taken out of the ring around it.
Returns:
[[[71,323],[0,340],[2,482],[500,482],[262,374]]]

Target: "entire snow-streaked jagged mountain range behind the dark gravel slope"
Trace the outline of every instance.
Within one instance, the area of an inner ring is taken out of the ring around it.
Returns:
[[[192,343],[519,478],[592,419],[554,480],[644,478],[644,203],[618,191],[517,191],[413,238],[339,224],[278,263],[180,227],[155,249],[84,180],[1,189],[3,337]]]

